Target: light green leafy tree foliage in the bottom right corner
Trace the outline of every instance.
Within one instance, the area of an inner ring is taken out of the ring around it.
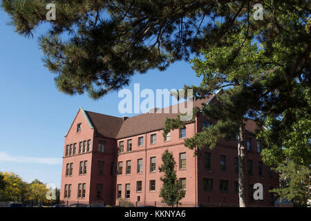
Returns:
[[[292,161],[285,161],[275,169],[280,172],[282,180],[280,189],[270,192],[278,193],[283,199],[292,200],[294,204],[306,205],[311,195],[311,169]],[[310,202],[309,202],[310,204]]]

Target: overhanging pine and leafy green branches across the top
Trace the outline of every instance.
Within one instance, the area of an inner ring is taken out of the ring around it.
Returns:
[[[48,22],[47,3],[3,0],[1,6],[16,32],[28,37]],[[260,80],[274,95],[295,77],[305,80],[310,67],[308,1],[260,1],[262,21],[252,16],[257,1],[53,3],[56,21],[50,21],[48,33],[39,37],[39,46],[46,67],[57,74],[57,87],[70,95],[87,91],[97,99],[129,84],[135,73],[165,70],[174,61],[189,59],[192,52],[208,59],[205,64],[193,60],[198,75],[204,76],[200,96],[223,86],[224,79],[234,85]]]

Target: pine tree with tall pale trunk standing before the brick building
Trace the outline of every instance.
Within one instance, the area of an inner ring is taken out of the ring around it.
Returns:
[[[196,115],[202,113],[207,119],[216,119],[217,122],[202,132],[196,133],[193,137],[185,139],[185,146],[194,149],[195,154],[200,153],[203,148],[214,148],[220,139],[233,140],[238,135],[238,189],[239,204],[246,206],[245,202],[245,116],[249,110],[249,93],[246,93],[241,86],[221,90],[216,99],[209,104],[203,104],[201,110],[194,111]],[[185,122],[180,118],[169,119],[165,122],[163,135],[176,128],[182,128]]]

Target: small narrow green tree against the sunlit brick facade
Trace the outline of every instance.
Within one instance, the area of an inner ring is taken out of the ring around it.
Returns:
[[[185,197],[185,191],[180,189],[180,184],[177,180],[175,166],[176,162],[173,158],[173,154],[168,150],[162,153],[163,164],[159,167],[160,173],[164,175],[160,178],[163,182],[162,189],[160,191],[160,198],[162,202],[165,202],[169,206],[176,205],[179,200]]]

